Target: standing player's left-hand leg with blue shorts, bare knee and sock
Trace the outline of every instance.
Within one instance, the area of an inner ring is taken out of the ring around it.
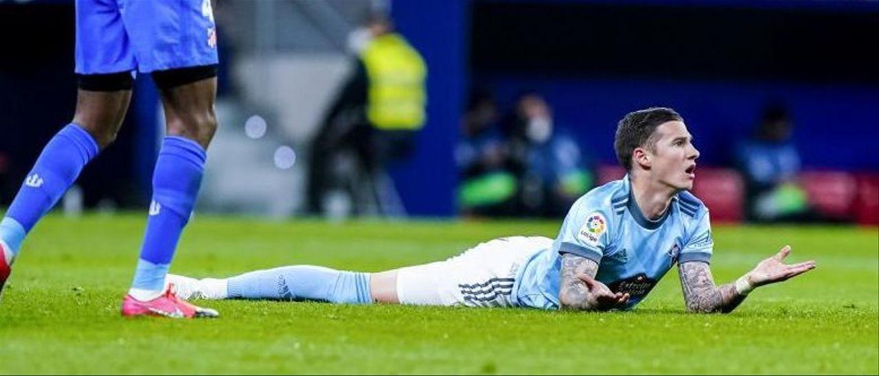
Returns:
[[[119,5],[76,0],[76,115],[43,148],[0,221],[0,293],[25,235],[54,206],[101,148],[113,142],[131,100],[131,71]]]

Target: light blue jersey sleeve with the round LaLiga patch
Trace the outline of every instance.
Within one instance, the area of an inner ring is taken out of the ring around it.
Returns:
[[[610,242],[610,223],[604,211],[588,200],[578,201],[565,217],[554,246],[559,254],[570,253],[601,262]]]

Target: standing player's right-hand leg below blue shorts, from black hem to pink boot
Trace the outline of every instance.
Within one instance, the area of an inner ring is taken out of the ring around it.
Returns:
[[[164,308],[142,303],[166,293],[165,275],[195,206],[207,145],[217,126],[215,73],[215,66],[153,72],[162,96],[167,136],[162,141],[153,172],[149,219],[134,280],[123,303],[123,315],[175,316],[173,305],[166,306],[170,311],[164,312]],[[191,308],[196,316],[216,315],[206,308]],[[192,316],[183,311],[184,316]]]

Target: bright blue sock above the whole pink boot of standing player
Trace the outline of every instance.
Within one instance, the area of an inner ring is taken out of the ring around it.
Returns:
[[[153,199],[133,289],[163,290],[180,234],[193,213],[206,158],[205,149],[195,141],[177,136],[162,141],[153,171]]]

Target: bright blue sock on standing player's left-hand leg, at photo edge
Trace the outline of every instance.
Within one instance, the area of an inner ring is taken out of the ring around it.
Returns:
[[[13,254],[18,254],[25,235],[61,199],[98,151],[98,142],[91,134],[72,123],[46,144],[0,222],[0,239]]]

